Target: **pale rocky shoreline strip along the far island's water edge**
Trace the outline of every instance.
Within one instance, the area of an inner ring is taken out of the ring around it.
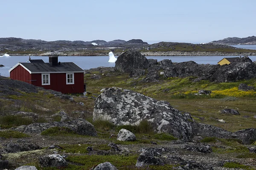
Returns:
[[[119,56],[122,52],[113,52]],[[84,53],[84,52],[56,52],[58,56],[108,56],[107,53]],[[218,52],[218,51],[146,51],[141,52],[144,56],[256,56],[256,52]],[[0,54],[1,55],[1,54]],[[49,56],[50,53],[43,54],[10,54],[12,56]]]

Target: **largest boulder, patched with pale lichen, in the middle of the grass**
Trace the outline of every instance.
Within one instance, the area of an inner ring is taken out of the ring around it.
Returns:
[[[101,92],[94,104],[94,121],[103,119],[115,125],[139,125],[142,120],[147,120],[157,133],[171,133],[177,138],[190,139],[192,127],[188,117],[168,102],[116,87],[105,88]]]

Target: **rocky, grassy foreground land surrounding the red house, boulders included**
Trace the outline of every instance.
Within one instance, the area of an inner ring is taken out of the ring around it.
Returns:
[[[0,169],[255,169],[255,68],[126,51],[86,96],[0,77]]]

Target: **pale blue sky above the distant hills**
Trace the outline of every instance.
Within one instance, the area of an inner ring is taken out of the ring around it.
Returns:
[[[256,0],[0,0],[0,37],[204,43],[256,36]]]

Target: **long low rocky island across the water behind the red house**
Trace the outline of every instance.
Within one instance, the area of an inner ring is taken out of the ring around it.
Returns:
[[[108,56],[113,51],[116,56],[128,50],[140,51],[145,56],[255,56],[256,50],[235,48],[220,43],[192,44],[180,42],[158,42],[148,44],[143,40],[93,41],[43,41],[9,37],[0,38],[0,55],[49,56]]]

